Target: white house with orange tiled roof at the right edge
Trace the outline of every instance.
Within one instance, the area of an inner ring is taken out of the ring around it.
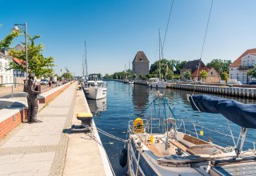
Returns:
[[[237,58],[230,66],[230,79],[237,79],[243,84],[252,81],[251,76],[247,73],[254,67],[256,63],[256,49],[246,50],[239,58]]]

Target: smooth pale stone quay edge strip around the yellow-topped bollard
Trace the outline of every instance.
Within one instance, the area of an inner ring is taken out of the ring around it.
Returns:
[[[76,92],[74,105],[72,124],[80,125],[81,121],[77,119],[77,113],[90,112],[82,90]],[[95,129],[94,126],[92,133],[68,134],[69,143],[63,175],[113,175],[106,158],[105,150],[101,146],[98,132]]]

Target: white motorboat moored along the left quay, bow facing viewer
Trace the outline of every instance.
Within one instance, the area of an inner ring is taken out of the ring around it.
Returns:
[[[101,99],[106,98],[106,82],[103,82],[99,74],[90,74],[85,82],[84,91],[86,98]]]

